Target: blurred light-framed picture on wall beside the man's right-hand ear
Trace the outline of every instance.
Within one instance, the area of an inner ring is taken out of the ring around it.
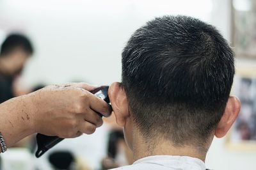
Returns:
[[[232,94],[241,102],[241,111],[230,129],[227,146],[256,151],[256,68],[237,69]]]

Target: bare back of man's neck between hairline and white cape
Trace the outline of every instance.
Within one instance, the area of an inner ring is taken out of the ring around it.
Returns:
[[[157,138],[156,142],[145,142],[142,137],[134,137],[132,146],[134,161],[152,155],[188,156],[205,161],[208,150],[204,147],[174,146],[170,141],[160,138]]]

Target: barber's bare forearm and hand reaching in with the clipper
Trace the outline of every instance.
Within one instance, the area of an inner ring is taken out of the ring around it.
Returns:
[[[7,148],[33,133],[63,138],[92,134],[103,123],[97,112],[111,113],[104,100],[89,92],[93,89],[85,83],[47,86],[0,104],[0,133]]]

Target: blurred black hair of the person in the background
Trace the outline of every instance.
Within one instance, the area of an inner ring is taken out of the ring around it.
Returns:
[[[29,38],[19,33],[13,33],[8,35],[2,43],[0,56],[10,54],[10,52],[17,48],[24,50],[28,54],[33,54],[33,46]]]

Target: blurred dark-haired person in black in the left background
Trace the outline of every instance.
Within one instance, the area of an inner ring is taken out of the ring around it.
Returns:
[[[13,82],[33,54],[30,40],[17,33],[8,35],[0,51],[0,103],[15,97]]]

